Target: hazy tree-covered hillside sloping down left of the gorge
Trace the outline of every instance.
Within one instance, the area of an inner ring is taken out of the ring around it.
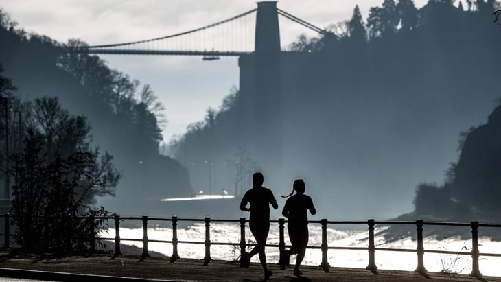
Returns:
[[[159,154],[163,106],[148,85],[106,66],[98,56],[71,52],[85,43],[58,43],[16,28],[0,11],[0,64],[21,99],[58,96],[70,113],[84,115],[93,143],[114,156],[124,176],[107,208],[141,213],[140,199],[191,195],[187,171]]]

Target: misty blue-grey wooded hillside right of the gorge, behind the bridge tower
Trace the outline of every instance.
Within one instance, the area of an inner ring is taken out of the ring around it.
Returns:
[[[279,128],[255,123],[253,78],[241,75],[229,107],[209,110],[172,143],[178,161],[207,181],[210,160],[213,186],[231,187],[236,170],[224,161],[246,148],[270,186],[287,191],[291,179],[307,179],[329,218],[412,209],[416,185],[443,180],[458,157],[458,134],[484,123],[500,97],[501,31],[492,16],[499,3],[434,0],[418,9],[410,0],[382,2],[368,19],[356,7],[350,20],[329,27],[333,34],[301,36],[290,49],[303,52],[281,54],[279,114],[260,117],[281,119]],[[281,145],[262,154],[257,142]]]

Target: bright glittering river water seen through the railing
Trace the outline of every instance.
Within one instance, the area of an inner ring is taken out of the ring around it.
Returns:
[[[321,226],[319,224],[310,224],[310,241],[308,246],[321,246]],[[384,231],[385,227],[376,228],[375,233]],[[108,229],[108,234],[104,233],[102,237],[115,237],[115,230]],[[337,247],[367,247],[369,245],[368,231],[366,230],[338,230],[327,229],[327,242],[330,246]],[[143,237],[142,228],[120,228],[120,237],[122,244],[129,244],[142,248],[142,242],[126,241],[126,239],[141,239]],[[148,239],[150,240],[172,240],[172,228],[150,227],[148,228]],[[178,228],[178,240],[204,242],[205,224],[194,223],[184,228]],[[253,236],[246,226],[246,241],[254,242]],[[211,242],[235,243],[234,246],[211,246],[212,259],[235,260],[240,255],[240,224],[212,222],[211,223]],[[270,226],[267,244],[279,243],[279,229],[277,224]],[[286,229],[286,244],[290,244]],[[499,253],[501,254],[501,242],[494,242],[487,237],[478,239],[480,253]],[[425,250],[447,250],[447,251],[466,251],[471,250],[471,239],[459,239],[458,237],[449,237],[436,239],[435,237],[426,237],[423,240]],[[375,237],[376,248],[417,248],[417,242],[412,241],[410,237],[400,239],[394,242],[386,242],[382,235]],[[172,255],[172,244],[154,243],[148,244],[148,250],[160,252],[164,255]],[[203,244],[178,244],[178,254],[180,257],[203,259],[205,257],[205,246]],[[140,255],[140,254],[138,254]],[[266,248],[268,263],[275,263],[279,259],[278,248]],[[294,263],[295,256],[292,255],[291,263]],[[307,249],[303,264],[318,266],[321,263],[321,250]],[[258,256],[253,257],[252,261],[258,262]],[[369,263],[369,252],[366,250],[329,250],[328,261],[331,267],[349,267],[366,268]],[[415,270],[417,267],[416,252],[393,252],[376,251],[375,263],[378,269],[386,270]],[[501,277],[501,258],[500,257],[480,257],[480,272],[488,276]],[[470,255],[445,255],[426,253],[424,255],[424,266],[431,272],[447,270],[452,273],[469,274],[471,272]]]

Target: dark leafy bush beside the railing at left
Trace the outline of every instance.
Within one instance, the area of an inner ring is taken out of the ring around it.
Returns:
[[[24,150],[12,155],[12,218],[18,227],[15,242],[27,251],[82,252],[89,248],[91,224],[78,215],[108,215],[103,207],[86,205],[86,196],[102,187],[92,174],[95,155],[74,152],[67,157],[43,153],[34,132],[24,140]],[[102,226],[104,220],[94,222]],[[94,235],[98,235],[94,231]]]

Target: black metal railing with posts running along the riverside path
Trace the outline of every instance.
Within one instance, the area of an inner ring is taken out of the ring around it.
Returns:
[[[0,215],[4,218],[4,233],[0,233],[0,236],[4,238],[4,248],[10,248],[10,221],[12,217],[9,213]],[[115,215],[113,217],[79,217],[81,220],[89,220],[91,226],[89,232],[89,252],[92,254],[95,252],[95,243],[98,240],[111,240],[115,242],[114,255],[121,255],[120,242],[130,241],[130,242],[143,242],[143,252],[141,257],[149,257],[148,243],[165,243],[172,244],[172,255],[170,256],[170,262],[174,263],[177,259],[180,259],[178,254],[178,244],[203,244],[205,245],[205,257],[203,258],[204,265],[209,264],[211,261],[211,246],[215,245],[227,245],[227,246],[240,246],[240,257],[244,255],[247,246],[255,246],[256,244],[250,244],[246,242],[246,218],[240,218],[238,220],[222,220],[222,219],[211,219],[211,218],[178,218],[172,216],[172,218],[148,218],[148,216],[143,215],[142,217],[120,217]],[[114,220],[115,222],[115,237],[95,237],[95,220]],[[143,237],[139,238],[121,238],[120,237],[120,222],[123,220],[141,220],[143,226]],[[171,240],[159,240],[159,239],[148,239],[148,220],[161,221],[161,222],[171,222],[172,224],[172,239]],[[178,222],[204,222],[205,223],[205,240],[202,241],[185,241],[178,239],[177,226]],[[212,242],[211,241],[211,222],[237,222],[240,223],[240,242]],[[286,250],[284,226],[286,220],[280,218],[279,220],[270,220],[270,223],[277,223],[279,226],[279,244],[266,244],[266,247],[279,248],[279,266],[281,270],[286,268],[284,261],[284,250]],[[311,220],[310,224],[320,224],[321,225],[321,246],[307,246],[310,249],[320,249],[322,252],[322,261],[320,267],[325,271],[329,272],[329,262],[327,259],[327,252],[329,250],[366,250],[369,252],[368,265],[366,270],[377,273],[377,266],[375,263],[375,252],[378,251],[392,251],[392,252],[416,252],[417,253],[417,267],[416,272],[419,272],[423,276],[427,276],[427,270],[424,266],[424,254],[425,253],[439,253],[447,255],[471,255],[471,273],[470,275],[478,279],[482,278],[482,273],[480,272],[478,266],[478,260],[480,256],[482,257],[501,257],[498,253],[480,253],[478,250],[478,228],[500,228],[501,224],[480,224],[476,221],[465,223],[465,222],[424,222],[423,220],[412,221],[375,221],[369,219],[367,221],[329,221],[327,219],[323,220]],[[368,241],[369,246],[367,247],[353,247],[353,246],[329,246],[327,243],[327,226],[330,225],[342,225],[342,224],[367,224],[368,226]],[[406,248],[377,248],[375,246],[375,225],[380,224],[382,226],[388,225],[411,225],[416,227],[416,237],[417,237],[417,248],[406,249]],[[454,252],[447,250],[426,250],[423,245],[423,226],[461,226],[471,228],[471,252],[462,251]],[[244,266],[243,261],[240,261],[240,266]]]

